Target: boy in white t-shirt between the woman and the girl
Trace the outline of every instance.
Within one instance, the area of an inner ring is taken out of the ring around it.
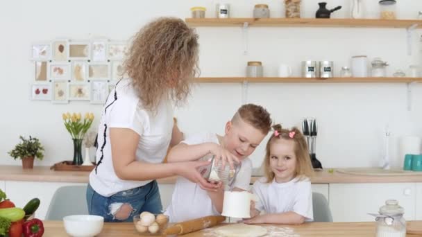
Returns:
[[[233,168],[233,161],[242,162],[233,191],[247,191],[251,182],[252,163],[248,159],[271,130],[271,119],[259,105],[242,105],[226,123],[224,136],[200,134],[187,137],[167,157],[169,162],[193,161],[208,154],[220,158]],[[166,214],[170,222],[182,222],[204,216],[219,216],[223,209],[224,190],[203,188],[184,177],[178,177]]]

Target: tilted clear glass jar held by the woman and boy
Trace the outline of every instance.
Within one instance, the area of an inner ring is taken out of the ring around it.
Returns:
[[[199,168],[199,173],[201,173],[204,179],[207,179],[210,182],[223,182],[223,184],[232,184],[236,178],[237,173],[242,166],[242,164],[235,164],[235,169],[231,169],[228,164],[221,167],[221,161],[217,164],[214,162],[214,155],[206,155],[203,157],[204,160],[210,160],[211,164],[208,166],[202,166]]]

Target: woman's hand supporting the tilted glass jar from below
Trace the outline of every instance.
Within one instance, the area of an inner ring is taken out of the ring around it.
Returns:
[[[189,181],[199,184],[203,189],[210,189],[212,191],[217,190],[218,184],[211,184],[206,179],[202,177],[199,173],[198,168],[201,166],[208,166],[210,161],[188,161],[188,162],[179,162],[177,164],[177,174],[183,176]]]

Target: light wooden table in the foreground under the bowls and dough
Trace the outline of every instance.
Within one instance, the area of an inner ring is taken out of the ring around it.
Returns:
[[[412,221],[416,225],[422,225],[422,220]],[[375,222],[310,222],[303,225],[273,225],[275,227],[290,227],[294,229],[295,234],[303,236],[341,236],[341,237],[360,237],[375,236]],[[60,221],[44,221],[44,237],[60,237],[67,236],[65,227]],[[215,228],[215,227],[214,227]],[[210,229],[196,231],[186,234],[186,237],[195,236],[213,236]],[[206,235],[204,235],[206,234]],[[133,223],[104,223],[103,230],[99,237],[119,236],[119,237],[137,237],[140,236],[135,232]],[[415,237],[416,235],[407,235]]]

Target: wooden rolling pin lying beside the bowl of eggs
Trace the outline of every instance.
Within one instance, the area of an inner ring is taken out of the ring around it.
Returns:
[[[194,220],[178,222],[164,231],[164,235],[171,234],[187,234],[193,231],[199,231],[208,227],[213,227],[226,220],[225,216],[205,216]]]

